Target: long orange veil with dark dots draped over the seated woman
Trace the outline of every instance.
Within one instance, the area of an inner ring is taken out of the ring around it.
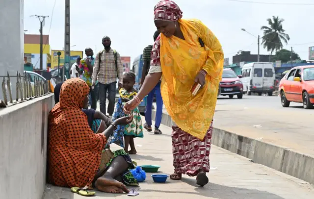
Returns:
[[[60,101],[49,113],[49,178],[58,186],[90,186],[100,166],[105,136],[95,134],[81,111],[89,86],[79,78],[66,80]]]

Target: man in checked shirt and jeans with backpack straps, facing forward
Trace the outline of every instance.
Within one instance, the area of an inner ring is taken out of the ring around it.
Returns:
[[[111,49],[111,40],[108,36],[103,37],[102,43],[105,47],[96,55],[92,85],[95,86],[98,81],[100,111],[106,114],[106,93],[108,91],[108,114],[112,117],[114,111],[114,103],[116,98],[116,83],[119,79],[119,88],[122,87],[123,65],[120,54]]]

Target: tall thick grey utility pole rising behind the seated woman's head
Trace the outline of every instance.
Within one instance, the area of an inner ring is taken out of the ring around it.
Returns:
[[[70,69],[70,0],[65,0],[64,15],[64,66],[62,69],[62,80],[64,80],[65,69]]]

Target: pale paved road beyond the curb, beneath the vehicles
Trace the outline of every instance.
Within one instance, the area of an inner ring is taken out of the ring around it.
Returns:
[[[277,96],[219,98],[214,126],[314,155],[314,109],[301,103],[281,106]]]

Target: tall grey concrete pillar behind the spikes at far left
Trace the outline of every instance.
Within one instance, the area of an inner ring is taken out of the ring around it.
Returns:
[[[16,98],[16,72],[24,70],[24,0],[0,0],[0,79],[11,76],[11,91]],[[2,91],[0,99],[3,100]]]

